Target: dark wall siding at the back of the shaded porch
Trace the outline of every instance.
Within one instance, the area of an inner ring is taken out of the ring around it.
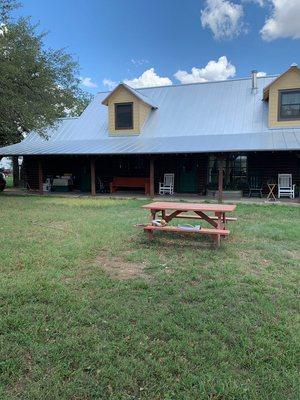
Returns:
[[[190,154],[197,163],[197,193],[205,194],[207,186],[208,154]],[[163,180],[164,173],[175,174],[175,190],[178,182],[178,164],[184,155],[155,156],[155,191]],[[89,156],[43,156],[43,176],[71,173],[75,176],[89,174]],[[248,176],[261,176],[263,191],[268,193],[267,183],[277,182],[278,174],[293,175],[293,183],[300,187],[300,152],[257,152],[248,153]],[[38,157],[24,157],[24,175],[31,189],[38,189]],[[111,180],[114,176],[149,176],[149,156],[122,155],[98,156],[96,176]],[[78,188],[78,186],[77,186]],[[245,193],[246,194],[246,193]]]

